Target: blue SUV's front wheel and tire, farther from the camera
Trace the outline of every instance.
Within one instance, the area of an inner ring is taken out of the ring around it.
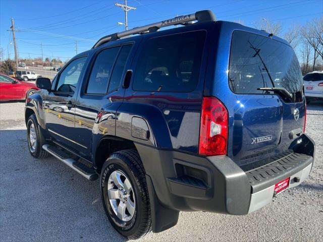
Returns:
[[[27,141],[30,154],[35,158],[46,158],[49,153],[42,149],[43,137],[35,114],[31,114],[27,122]]]

